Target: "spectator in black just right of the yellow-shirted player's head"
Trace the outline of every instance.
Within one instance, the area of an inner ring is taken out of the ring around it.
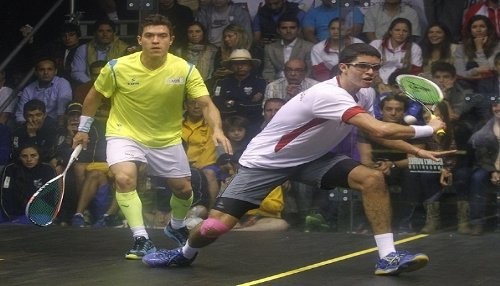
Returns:
[[[158,14],[166,16],[174,24],[173,35],[175,39],[172,43],[172,51],[186,46],[188,35],[184,33],[189,23],[194,21],[193,10],[179,4],[177,0],[159,0]]]

